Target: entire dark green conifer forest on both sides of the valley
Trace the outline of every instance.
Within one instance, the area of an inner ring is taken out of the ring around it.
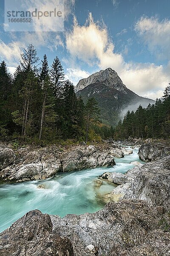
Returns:
[[[51,67],[48,58],[37,56],[32,44],[24,49],[14,76],[6,63],[0,63],[0,140],[46,145],[170,137],[170,86],[162,99],[136,112],[128,111],[116,128],[100,122],[95,98],[83,102],[74,85],[64,80],[64,70],[56,56]]]

